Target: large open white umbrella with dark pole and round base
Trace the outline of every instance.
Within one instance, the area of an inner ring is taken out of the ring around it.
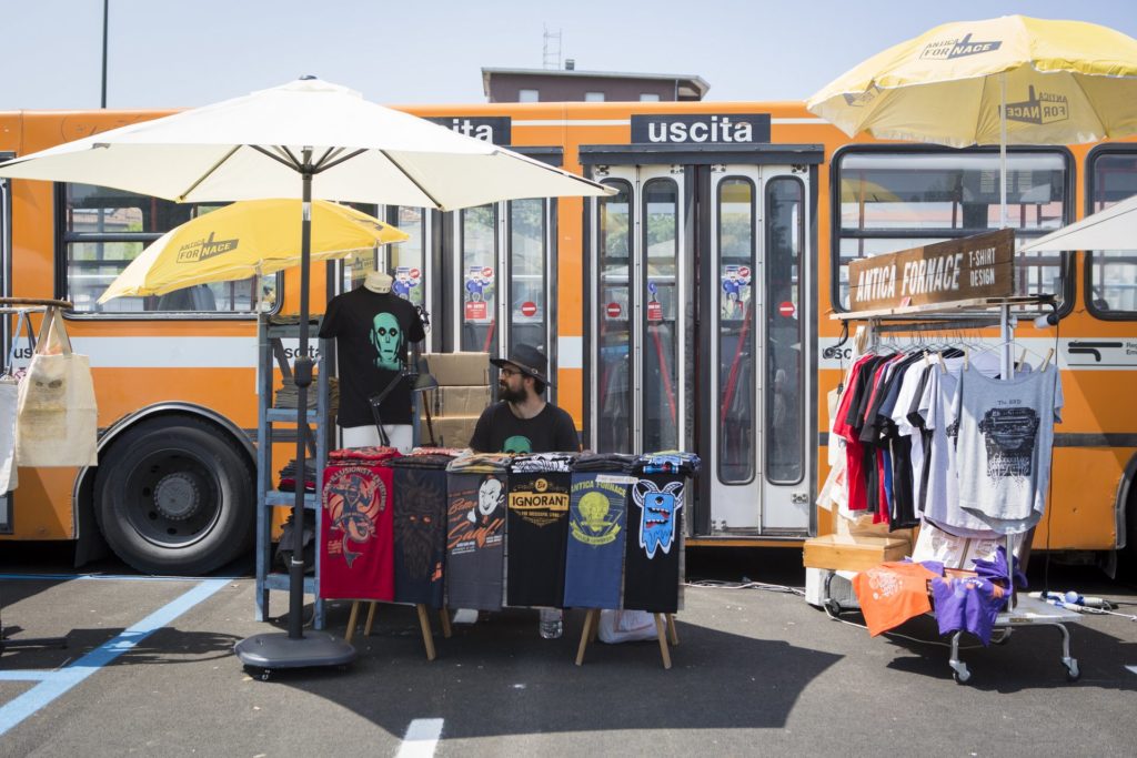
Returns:
[[[16,158],[0,164],[0,176],[99,184],[186,202],[300,198],[301,324],[308,323],[313,198],[454,210],[614,192],[310,76]],[[300,330],[293,375],[300,426],[312,384],[307,328]],[[304,435],[298,435],[296,457],[302,472]],[[302,509],[304,488],[297,488],[293,524],[304,523]],[[236,652],[246,664],[266,669],[341,665],[355,656],[351,645],[331,635],[304,635],[301,533],[294,530],[289,567],[288,635],[242,640]]]

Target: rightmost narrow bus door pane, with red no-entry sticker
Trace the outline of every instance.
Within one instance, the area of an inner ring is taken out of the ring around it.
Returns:
[[[766,481],[797,484],[805,476],[805,381],[802,301],[805,188],[791,177],[766,184],[765,440]]]

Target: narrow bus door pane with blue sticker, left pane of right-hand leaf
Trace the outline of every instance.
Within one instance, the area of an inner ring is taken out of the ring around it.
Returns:
[[[719,481],[754,481],[754,183],[719,183]]]

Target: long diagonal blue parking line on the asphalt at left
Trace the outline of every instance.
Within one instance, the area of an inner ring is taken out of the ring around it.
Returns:
[[[73,686],[110,664],[144,639],[171,624],[179,616],[206,600],[211,594],[229,584],[229,580],[206,580],[189,592],[182,594],[158,610],[153,611],[134,626],[108,640],[86,653],[70,666],[56,672],[44,672],[43,681],[10,702],[0,706],[0,735],[18,725],[25,718],[40,710]],[[32,674],[28,672],[28,674]],[[39,673],[35,673],[39,677]],[[15,677],[14,677],[15,678]],[[25,676],[24,681],[33,678]]]

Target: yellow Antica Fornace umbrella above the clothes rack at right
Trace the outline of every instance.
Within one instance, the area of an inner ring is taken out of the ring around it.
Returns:
[[[806,108],[850,136],[999,144],[1005,216],[1007,144],[1137,134],[1137,40],[1026,16],[944,24],[839,76]]]

